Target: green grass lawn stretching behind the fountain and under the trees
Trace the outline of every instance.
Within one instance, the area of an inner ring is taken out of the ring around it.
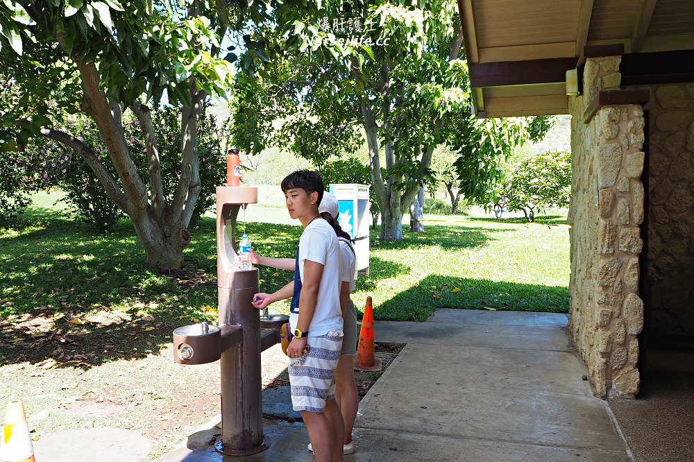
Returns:
[[[205,217],[192,229],[186,277],[177,279],[143,268],[144,250],[128,221],[119,222],[111,234],[97,234],[62,217],[54,197],[37,196],[23,217],[25,225],[0,233],[1,317],[37,307],[128,311],[142,309],[141,304],[185,323],[214,315],[214,219]],[[262,223],[286,215],[283,209],[253,214],[257,221],[249,221],[246,231],[258,253],[294,255],[298,223]],[[568,227],[557,224],[561,220],[539,217],[540,223],[524,224],[520,219],[430,217],[425,233],[405,229],[405,239],[393,243],[375,239],[377,228],[371,231],[369,275],[360,275],[353,300],[363,309],[371,296],[374,316],[382,320],[421,321],[438,307],[566,312]],[[290,278],[287,272],[260,268],[263,291],[278,289]],[[286,311],[287,304],[276,309]]]

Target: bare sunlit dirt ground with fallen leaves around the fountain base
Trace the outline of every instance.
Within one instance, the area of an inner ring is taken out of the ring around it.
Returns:
[[[173,326],[92,308],[79,317],[37,309],[0,320],[0,409],[23,400],[34,440],[74,429],[130,429],[153,442],[154,460],[219,415],[219,362],[181,366],[167,343]],[[383,369],[401,348],[375,345]],[[286,368],[280,345],[262,352],[264,388],[289,384]],[[381,374],[355,372],[359,399]]]

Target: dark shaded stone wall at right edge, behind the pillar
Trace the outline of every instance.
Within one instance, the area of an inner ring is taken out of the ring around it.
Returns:
[[[694,335],[694,83],[650,87],[648,330]]]

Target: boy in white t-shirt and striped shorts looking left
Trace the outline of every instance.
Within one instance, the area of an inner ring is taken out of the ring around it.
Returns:
[[[300,411],[316,461],[341,461],[344,421],[335,402],[335,368],[342,347],[341,259],[337,236],[318,212],[323,179],[314,171],[295,171],[282,180],[289,216],[304,232],[299,240],[294,282],[275,293],[257,293],[264,309],[292,296],[289,323],[294,339],[287,347],[291,404]]]

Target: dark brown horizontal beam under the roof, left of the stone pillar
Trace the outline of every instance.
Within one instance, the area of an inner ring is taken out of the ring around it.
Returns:
[[[576,58],[546,60],[468,62],[471,87],[500,87],[566,81],[566,71],[576,67]]]

